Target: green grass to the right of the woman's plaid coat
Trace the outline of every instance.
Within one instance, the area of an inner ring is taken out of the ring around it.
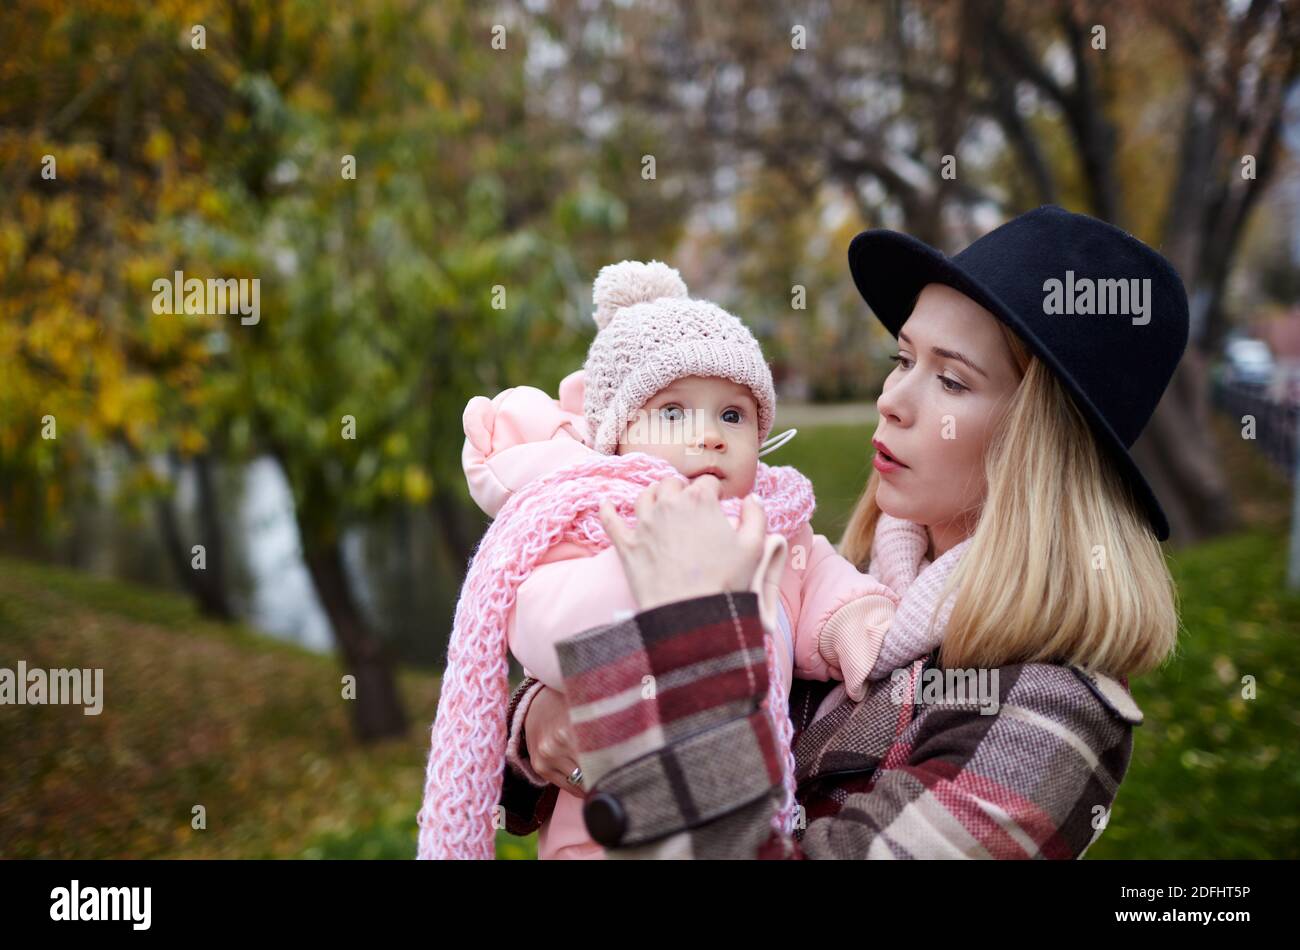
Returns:
[[[1145,721],[1089,858],[1300,858],[1300,597],[1283,594],[1284,565],[1280,530],[1174,560],[1179,651],[1132,682]]]

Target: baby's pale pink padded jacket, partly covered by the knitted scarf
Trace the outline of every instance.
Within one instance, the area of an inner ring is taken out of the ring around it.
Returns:
[[[490,517],[533,478],[597,455],[585,443],[581,370],[560,383],[559,400],[532,386],[508,389],[491,400],[474,396],[465,407],[464,429],[465,481]],[[810,525],[789,538],[777,593],[777,658],[786,691],[793,674],[846,680],[850,695],[857,691],[861,697],[898,597],[858,572],[823,535],[814,535]],[[556,641],[634,612],[636,602],[612,547],[593,551],[562,542],[519,585],[507,628],[510,650],[525,672],[558,689]],[[511,763],[534,784],[547,784],[514,747]],[[603,856],[582,824],[582,799],[566,789],[562,793],[538,833],[538,856]]]

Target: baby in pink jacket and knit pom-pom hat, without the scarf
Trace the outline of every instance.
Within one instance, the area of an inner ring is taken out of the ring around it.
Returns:
[[[734,316],[688,298],[677,272],[656,261],[603,268],[593,299],[599,331],[584,369],[560,383],[558,400],[520,386],[491,400],[476,396],[465,407],[463,463],[471,495],[495,517],[542,476],[602,455],[642,452],[689,480],[715,476],[724,499],[755,493],[771,530],[776,498],[797,496],[802,486],[806,507],[784,538],[770,537],[755,578],[777,645],[783,695],[798,676],[842,680],[849,695],[861,699],[898,598],[812,534],[811,493],[802,476],[759,463],[776,399],[758,342]],[[525,672],[558,689],[555,642],[634,611],[612,547],[562,541],[517,585],[510,650]],[[519,725],[511,730],[516,743]],[[507,755],[530,781],[546,784],[517,747]],[[586,834],[581,807],[581,789],[560,789],[538,834],[540,858],[603,856]]]

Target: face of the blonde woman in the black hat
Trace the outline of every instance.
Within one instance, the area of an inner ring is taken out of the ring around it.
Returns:
[[[876,400],[876,502],[930,528],[935,556],[970,537],[984,502],[984,450],[1019,383],[997,318],[942,283],[920,292]],[[881,455],[893,456],[890,467]]]

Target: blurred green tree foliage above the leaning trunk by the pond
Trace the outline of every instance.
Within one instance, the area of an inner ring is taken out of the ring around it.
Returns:
[[[469,5],[406,12],[350,9],[348,43],[294,83],[246,74],[251,126],[274,130],[265,177],[228,177],[220,213],[178,209],[168,229],[185,255],[263,279],[264,320],[226,331],[229,408],[285,467],[309,546],[395,504],[459,498],[468,398],[558,378],[581,352],[547,318],[564,242],[537,182],[558,175],[534,140],[545,126],[516,121],[520,57],[459,43],[486,35]]]

